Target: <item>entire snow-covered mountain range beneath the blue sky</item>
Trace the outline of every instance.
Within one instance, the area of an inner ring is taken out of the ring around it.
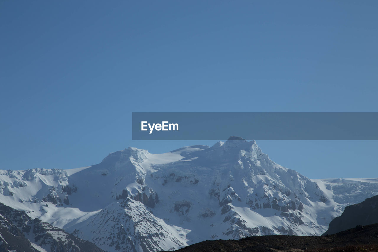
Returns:
[[[378,179],[310,180],[239,137],[164,154],[129,147],[71,170],[0,171],[0,202],[108,251],[321,235],[345,206],[377,194]]]

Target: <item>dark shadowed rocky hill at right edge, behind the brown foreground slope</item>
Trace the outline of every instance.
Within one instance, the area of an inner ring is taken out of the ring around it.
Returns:
[[[341,216],[330,222],[327,232],[323,235],[331,235],[356,226],[366,226],[378,223],[378,196],[345,207]]]

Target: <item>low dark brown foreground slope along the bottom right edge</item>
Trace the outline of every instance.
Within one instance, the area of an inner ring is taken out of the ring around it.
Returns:
[[[241,240],[203,241],[177,251],[375,251],[378,252],[378,224],[357,226],[326,236],[269,235]]]

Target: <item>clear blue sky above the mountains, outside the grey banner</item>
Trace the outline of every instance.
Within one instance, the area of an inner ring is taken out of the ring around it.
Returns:
[[[0,168],[214,143],[132,141],[132,112],[377,112],[377,13],[378,1],[3,0]],[[310,178],[378,177],[377,141],[257,143]]]

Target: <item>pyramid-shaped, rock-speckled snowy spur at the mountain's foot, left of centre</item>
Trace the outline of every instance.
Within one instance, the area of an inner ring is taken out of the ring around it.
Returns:
[[[108,251],[176,250],[186,246],[187,232],[189,230],[168,226],[143,203],[130,198],[121,203],[113,202],[73,230],[74,235]]]

